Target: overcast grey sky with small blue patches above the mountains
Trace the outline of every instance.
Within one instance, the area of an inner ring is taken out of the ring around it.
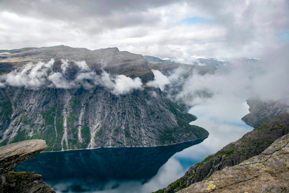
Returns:
[[[289,41],[289,1],[0,0],[0,49],[67,45],[171,58],[262,57]]]

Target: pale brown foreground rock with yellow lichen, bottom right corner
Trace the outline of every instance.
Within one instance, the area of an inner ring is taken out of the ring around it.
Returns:
[[[277,139],[260,155],[226,167],[179,193],[289,192],[289,134]]]

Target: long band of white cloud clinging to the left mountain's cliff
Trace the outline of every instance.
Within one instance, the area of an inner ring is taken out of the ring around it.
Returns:
[[[142,82],[139,77],[131,79],[124,75],[111,77],[106,71],[101,74],[92,71],[86,61],[61,60],[61,71],[54,72],[54,59],[48,63],[28,63],[22,68],[11,71],[0,76],[0,87],[6,85],[14,87],[25,87],[27,89],[38,89],[40,87],[55,87],[61,89],[73,89],[83,87],[91,89],[97,85],[109,89],[115,95],[123,95],[135,89],[142,89]],[[77,74],[72,78],[66,78],[68,69],[76,65]]]

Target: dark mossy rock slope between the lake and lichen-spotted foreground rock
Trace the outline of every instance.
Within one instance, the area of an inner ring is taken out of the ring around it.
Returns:
[[[214,172],[227,166],[234,166],[253,156],[259,155],[276,139],[289,133],[289,113],[282,113],[259,128],[246,133],[202,162],[194,164],[186,174],[167,188],[156,192],[177,192],[182,188],[210,177]]]

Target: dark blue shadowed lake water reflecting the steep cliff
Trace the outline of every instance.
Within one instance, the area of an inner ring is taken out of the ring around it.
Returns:
[[[20,164],[15,170],[41,174],[42,180],[57,192],[111,190],[117,189],[122,181],[145,184],[176,152],[202,141],[148,148],[43,152]],[[108,185],[112,181],[114,183]],[[61,183],[62,186],[59,185]]]

